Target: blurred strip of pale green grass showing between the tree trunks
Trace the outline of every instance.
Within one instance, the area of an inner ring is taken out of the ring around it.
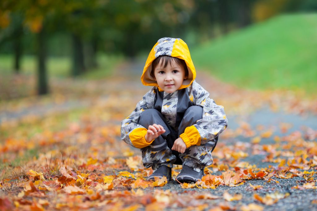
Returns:
[[[0,74],[8,75],[13,73],[13,55],[0,55]],[[123,59],[121,56],[111,56],[100,54],[97,56],[98,67],[90,69],[81,75],[81,78],[100,79],[111,74],[112,68],[119,64]],[[21,72],[24,74],[36,74],[36,57],[24,55],[21,61]],[[71,74],[71,58],[68,57],[49,57],[47,69],[49,76],[68,77]]]

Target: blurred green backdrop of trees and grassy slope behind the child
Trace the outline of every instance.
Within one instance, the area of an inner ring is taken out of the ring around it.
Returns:
[[[0,83],[34,74],[47,94],[48,75],[107,77],[123,60],[145,62],[159,38],[178,37],[220,80],[309,92],[316,11],[315,0],[2,0]]]

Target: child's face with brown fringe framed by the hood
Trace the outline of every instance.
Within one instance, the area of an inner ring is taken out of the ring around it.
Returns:
[[[183,65],[179,65],[176,62],[167,64],[165,68],[160,62],[154,69],[154,77],[159,87],[167,93],[173,93],[178,90],[184,79],[187,79]]]

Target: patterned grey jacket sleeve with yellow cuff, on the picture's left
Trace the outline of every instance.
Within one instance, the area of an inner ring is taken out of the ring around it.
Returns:
[[[137,124],[137,122],[139,116],[144,110],[153,107],[155,94],[156,88],[153,87],[143,96],[143,99],[138,102],[133,112],[121,122],[121,139],[135,148],[146,147],[150,145],[153,141],[152,140],[151,142],[146,142],[145,135],[147,129]]]

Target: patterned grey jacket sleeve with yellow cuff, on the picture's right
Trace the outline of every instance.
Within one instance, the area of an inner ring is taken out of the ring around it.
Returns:
[[[180,135],[187,148],[214,140],[228,125],[223,106],[210,99],[209,93],[195,81],[191,85],[189,96],[195,105],[203,107],[203,118],[196,124],[186,127]]]

